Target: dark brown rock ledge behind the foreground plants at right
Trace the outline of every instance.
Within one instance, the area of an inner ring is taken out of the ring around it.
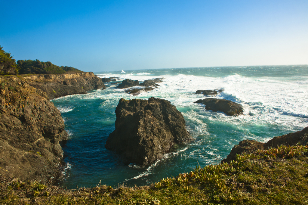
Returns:
[[[285,134],[279,137],[274,137],[266,143],[261,143],[255,140],[243,140],[240,141],[238,145],[235,145],[231,150],[227,158],[223,159],[221,162],[231,162],[236,159],[237,154],[243,152],[251,153],[253,151],[267,150],[270,148],[277,148],[278,146],[293,146],[296,144],[306,145],[308,144],[308,127],[304,128],[302,131],[295,133]]]

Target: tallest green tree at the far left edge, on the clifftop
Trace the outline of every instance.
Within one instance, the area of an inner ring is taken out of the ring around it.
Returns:
[[[0,45],[0,75],[17,75],[18,69],[13,55],[5,52]]]

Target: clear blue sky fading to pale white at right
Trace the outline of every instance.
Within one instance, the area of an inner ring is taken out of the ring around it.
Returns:
[[[0,44],[83,71],[308,64],[308,1],[4,1]]]

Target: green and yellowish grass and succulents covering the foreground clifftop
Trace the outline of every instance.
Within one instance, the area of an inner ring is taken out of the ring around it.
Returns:
[[[65,190],[0,179],[2,204],[308,204],[308,146],[237,155],[230,164],[196,167],[144,187]]]

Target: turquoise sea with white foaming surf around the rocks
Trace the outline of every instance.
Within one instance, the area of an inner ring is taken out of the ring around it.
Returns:
[[[124,73],[125,72],[125,73]],[[266,142],[274,136],[302,130],[308,125],[308,65],[173,68],[96,73],[121,80],[164,78],[153,91],[132,96],[126,89],[106,83],[106,90],[93,90],[52,100],[60,110],[69,139],[62,143],[66,165],[61,186],[93,187],[148,185],[201,166],[219,163],[243,139]],[[199,89],[223,89],[217,98],[233,100],[245,115],[229,117],[213,113],[193,102],[205,98]],[[173,147],[172,152],[151,166],[124,164],[105,149],[115,129],[115,107],[120,98],[169,100],[183,114],[194,140]]]

